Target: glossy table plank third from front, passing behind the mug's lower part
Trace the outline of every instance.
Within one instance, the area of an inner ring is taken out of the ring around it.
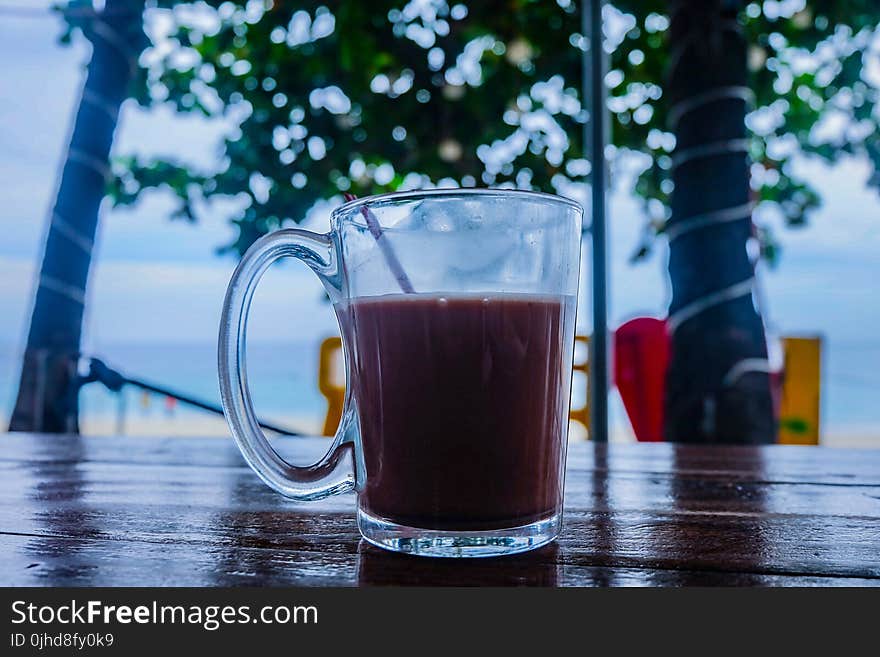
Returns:
[[[247,466],[202,468],[192,465],[133,465],[116,462],[77,464],[0,463],[0,508],[19,508],[19,491],[35,502],[76,496],[84,504],[199,504],[237,509],[277,508],[303,513],[352,511],[352,499],[320,502],[285,500],[266,487]],[[234,498],[230,497],[234,492]],[[570,470],[568,508],[581,510],[653,510],[682,513],[861,516],[880,518],[880,486],[829,486],[814,483],[764,483],[717,476],[660,476],[616,470]],[[0,525],[2,528],[2,525]]]

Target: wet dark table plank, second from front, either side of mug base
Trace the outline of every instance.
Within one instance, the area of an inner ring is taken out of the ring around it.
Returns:
[[[359,541],[351,512],[188,505],[57,505],[21,520],[7,508],[0,527],[112,541],[123,552],[131,543],[195,552],[237,546],[311,552],[318,560]],[[861,518],[569,510],[560,545],[580,565],[880,577],[880,523]]]

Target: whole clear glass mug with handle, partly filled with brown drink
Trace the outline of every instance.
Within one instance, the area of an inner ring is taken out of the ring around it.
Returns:
[[[559,534],[583,210],[549,194],[453,189],[348,202],[326,235],[256,242],[229,283],[219,378],[229,428],[266,484],[295,500],[354,490],[379,547],[492,556]],[[245,370],[254,289],[302,260],[336,311],[345,408],[300,467],[263,435]]]

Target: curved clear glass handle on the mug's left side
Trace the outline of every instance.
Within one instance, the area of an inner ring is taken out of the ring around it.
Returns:
[[[220,319],[218,371],[226,421],[245,461],[266,484],[295,500],[317,500],[355,488],[355,414],[350,395],[336,436],[327,453],[313,465],[285,461],[260,429],[251,401],[245,365],[248,312],[257,284],[276,260],[292,257],[306,263],[330,291],[337,289],[336,251],[331,235],[284,229],[261,238],[241,259],[226,291]]]

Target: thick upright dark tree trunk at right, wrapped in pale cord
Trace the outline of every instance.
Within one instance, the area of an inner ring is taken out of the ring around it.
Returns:
[[[776,426],[754,266],[736,0],[674,0],[667,93],[676,137],[667,440],[770,443]]]

